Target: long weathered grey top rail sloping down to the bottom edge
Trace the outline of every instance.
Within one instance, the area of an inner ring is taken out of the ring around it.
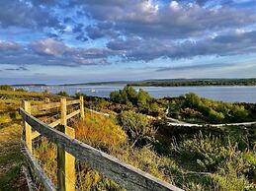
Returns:
[[[127,190],[182,190],[89,145],[68,137],[30,115],[23,108],[20,108],[20,113],[24,120],[46,137],[48,141],[55,143],[58,147],[62,147],[76,159],[86,161],[93,169],[116,181]]]

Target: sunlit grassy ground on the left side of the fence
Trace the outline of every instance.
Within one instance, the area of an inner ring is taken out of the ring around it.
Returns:
[[[24,163],[21,154],[22,118],[18,109],[23,99],[33,104],[43,101],[46,95],[0,91],[0,191],[28,190],[21,173]],[[50,96],[53,100],[54,96]]]

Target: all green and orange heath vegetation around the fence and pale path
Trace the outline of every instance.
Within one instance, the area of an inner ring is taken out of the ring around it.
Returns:
[[[194,94],[153,99],[139,92],[128,87],[112,94],[111,99],[83,95],[87,106],[111,115],[86,111],[84,121],[73,125],[76,139],[185,190],[256,190],[255,126],[183,128],[167,126],[164,118],[158,118],[169,103],[171,116],[190,122],[244,121],[253,119],[255,105],[223,103]],[[18,101],[11,103],[14,108],[20,104],[21,97],[17,97],[14,100]],[[148,115],[154,103],[160,111],[156,117]],[[19,152],[21,118],[8,104],[1,107],[0,190],[18,190],[13,185],[23,163]],[[43,138],[34,145],[36,158],[56,183],[55,146]],[[85,162],[76,160],[76,172],[79,190],[124,190]]]

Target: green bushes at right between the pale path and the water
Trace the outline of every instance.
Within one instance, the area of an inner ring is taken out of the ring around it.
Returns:
[[[185,96],[173,98],[170,101],[170,114],[173,117],[196,122],[231,123],[252,121],[255,118],[251,109],[238,103],[225,103],[190,93]]]

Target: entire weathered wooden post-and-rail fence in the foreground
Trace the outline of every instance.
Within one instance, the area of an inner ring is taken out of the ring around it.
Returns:
[[[67,114],[67,105],[77,103],[80,104],[80,109]],[[60,119],[48,125],[31,114],[32,111],[54,107],[60,107]],[[28,101],[24,101],[23,107],[20,108],[20,113],[25,123],[23,153],[28,159],[31,171],[36,175],[45,190],[76,190],[74,183],[75,159],[85,161],[90,167],[119,183],[127,190],[182,190],[76,140],[74,129],[67,126],[67,119],[77,114],[80,114],[81,118],[84,117],[82,96],[78,100],[66,101],[65,98],[61,98],[60,102],[35,106],[32,106]],[[58,130],[54,128],[56,126],[58,126]],[[33,139],[39,136],[47,138],[48,141],[57,146],[57,186],[45,175],[42,167],[33,156]]]

